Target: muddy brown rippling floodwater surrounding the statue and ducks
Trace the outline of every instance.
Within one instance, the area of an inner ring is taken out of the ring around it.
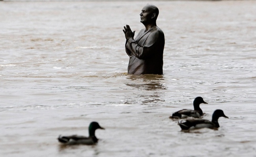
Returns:
[[[0,2],[1,156],[256,156],[256,1],[150,1],[164,75],[128,75],[122,28],[147,3]],[[168,118],[197,96],[230,117],[219,130]],[[91,121],[96,146],[59,146]]]

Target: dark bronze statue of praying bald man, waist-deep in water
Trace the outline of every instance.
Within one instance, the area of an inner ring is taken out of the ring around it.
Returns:
[[[128,74],[163,74],[163,49],[165,37],[156,25],[159,10],[155,5],[145,5],[139,14],[145,29],[134,39],[135,31],[124,26],[125,51],[130,57]]]

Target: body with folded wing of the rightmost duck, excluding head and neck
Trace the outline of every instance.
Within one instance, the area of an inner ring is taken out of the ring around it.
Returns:
[[[212,128],[214,124],[206,119],[187,119],[186,121],[178,122],[182,130]]]

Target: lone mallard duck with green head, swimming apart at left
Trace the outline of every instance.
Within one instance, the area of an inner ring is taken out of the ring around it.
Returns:
[[[71,135],[71,136],[59,135],[58,140],[62,144],[96,144],[98,142],[98,139],[95,136],[96,129],[105,129],[105,128],[102,128],[97,122],[91,122],[88,129],[89,137],[80,136],[80,135]]]

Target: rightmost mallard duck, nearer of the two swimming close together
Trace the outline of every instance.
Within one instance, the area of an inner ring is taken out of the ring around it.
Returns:
[[[200,128],[219,128],[218,119],[219,117],[225,117],[228,118],[223,110],[215,110],[212,114],[211,121],[208,121],[206,119],[186,119],[185,121],[178,122],[178,125],[180,125],[180,128],[182,130],[192,130],[192,129],[200,129]]]

